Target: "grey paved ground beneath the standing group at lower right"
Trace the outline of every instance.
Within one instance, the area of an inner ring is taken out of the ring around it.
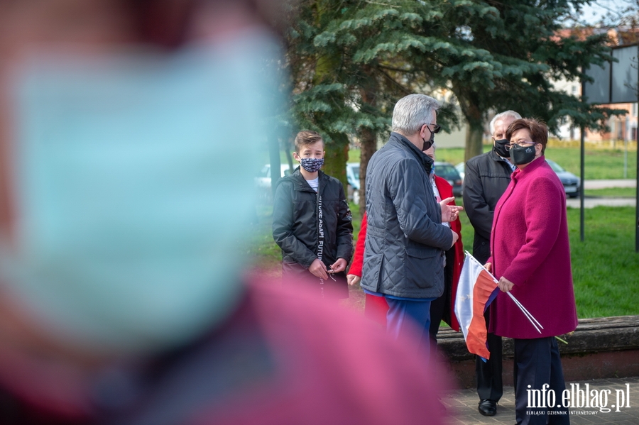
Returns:
[[[571,410],[570,423],[574,425],[592,425],[592,424],[618,424],[618,425],[637,425],[639,424],[639,377],[626,377],[608,380],[588,380],[567,382],[567,389],[570,384],[579,384],[579,389],[584,389],[585,384],[589,384],[589,390],[597,391],[598,395],[606,394],[602,390],[610,390],[608,396],[608,408],[616,401],[616,390],[626,392],[629,384],[630,407],[623,407],[616,412],[616,408],[611,412],[600,412],[598,408],[574,408]],[[575,388],[575,392],[577,388]],[[481,416],[477,410],[479,399],[475,390],[457,390],[449,393],[449,397],[444,397],[442,403],[447,407],[447,412],[452,417],[449,418],[450,425],[474,425],[474,424],[515,424],[515,394],[513,387],[504,387],[503,397],[497,406],[496,416]],[[621,395],[620,395],[621,399]],[[603,397],[602,397],[603,400]],[[576,403],[576,402],[575,402]],[[427,422],[425,422],[427,423]]]

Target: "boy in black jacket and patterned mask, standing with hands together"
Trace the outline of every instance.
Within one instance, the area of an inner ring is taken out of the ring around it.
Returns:
[[[320,297],[347,298],[346,265],[353,255],[353,224],[344,187],[320,171],[324,140],[315,131],[295,137],[301,167],[278,182],[273,239],[282,248],[285,282],[304,282]]]

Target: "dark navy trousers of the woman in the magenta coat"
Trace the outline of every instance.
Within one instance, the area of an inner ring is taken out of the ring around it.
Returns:
[[[567,407],[557,408],[562,403],[566,389],[562,359],[559,356],[557,340],[554,336],[535,339],[514,339],[515,343],[515,419],[522,425],[564,425],[570,424]],[[543,388],[547,384],[549,387]],[[532,390],[545,390],[535,392]],[[548,397],[549,390],[555,394],[555,401]],[[535,401],[533,401],[533,397]],[[545,402],[540,398],[545,397]],[[548,407],[549,404],[555,406]],[[532,404],[529,406],[528,404]],[[544,405],[545,407],[540,407]],[[555,414],[548,414],[551,410]]]

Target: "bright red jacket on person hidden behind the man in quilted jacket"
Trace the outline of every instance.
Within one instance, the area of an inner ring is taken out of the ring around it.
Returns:
[[[442,197],[442,199],[453,196],[452,186],[442,177],[438,177],[437,175],[435,176],[435,185],[437,186],[437,190],[439,190],[439,196]],[[455,202],[453,201],[452,205],[454,204]],[[353,256],[351,268],[349,269],[349,275],[356,275],[361,277],[361,268],[364,266],[364,241],[366,239],[366,223],[366,213],[364,213],[364,217],[361,219],[361,228],[359,230],[359,236],[357,236],[355,254]],[[454,311],[455,296],[457,295],[457,282],[459,282],[461,265],[464,264],[464,246],[461,244],[461,221],[459,221],[459,218],[450,223],[450,227],[455,233],[457,233],[457,236],[459,236],[457,243],[455,243],[454,245],[455,263],[453,265],[452,296],[450,306],[450,311]],[[450,316],[452,321],[452,323],[449,323],[450,327],[459,332],[459,323],[457,322],[457,317],[454,314],[451,314]]]

